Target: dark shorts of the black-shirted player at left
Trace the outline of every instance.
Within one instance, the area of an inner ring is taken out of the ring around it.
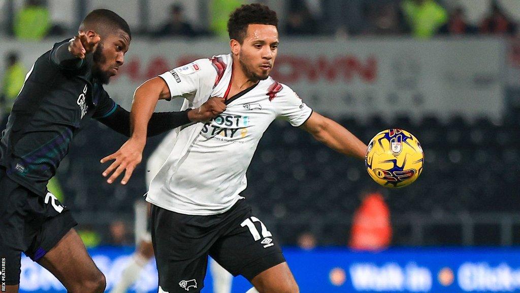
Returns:
[[[21,252],[37,262],[75,225],[54,196],[39,196],[0,167],[0,259],[5,259],[6,285],[20,283]]]

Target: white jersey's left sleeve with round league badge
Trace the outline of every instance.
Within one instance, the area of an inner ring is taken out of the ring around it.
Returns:
[[[200,82],[215,80],[216,71],[209,59],[199,59],[166,71],[159,77],[168,85],[172,98],[184,97],[190,100],[200,88]]]

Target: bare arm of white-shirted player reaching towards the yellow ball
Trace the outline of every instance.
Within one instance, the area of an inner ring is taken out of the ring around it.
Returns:
[[[301,128],[331,149],[360,159],[365,158],[367,145],[332,119],[313,112]]]

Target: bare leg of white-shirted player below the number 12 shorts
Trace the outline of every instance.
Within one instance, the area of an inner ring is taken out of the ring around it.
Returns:
[[[251,279],[251,284],[260,293],[297,293],[298,285],[287,262],[268,268]]]

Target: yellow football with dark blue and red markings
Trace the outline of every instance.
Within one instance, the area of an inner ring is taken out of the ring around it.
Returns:
[[[410,132],[387,129],[368,144],[365,165],[370,177],[384,187],[410,185],[422,173],[424,153]]]

